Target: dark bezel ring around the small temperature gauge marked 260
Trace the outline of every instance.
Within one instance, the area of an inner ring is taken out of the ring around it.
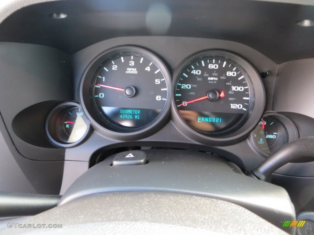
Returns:
[[[266,112],[263,115],[263,118],[266,118],[266,117],[269,117],[269,118],[272,118],[272,119],[276,119],[276,120],[278,120],[279,122],[282,123],[282,125],[285,127],[285,129],[287,131],[287,134],[288,134],[288,143],[299,138],[298,129],[295,126],[295,124],[290,120],[290,118],[288,118],[288,117],[286,117],[283,114],[280,114],[278,112]],[[259,146],[257,146],[257,144],[256,144],[256,142],[254,140],[253,134],[254,134],[254,131],[252,131],[250,136],[247,138],[247,142],[248,142],[249,146],[257,154],[259,154],[259,155],[261,155],[263,157],[268,157],[270,154],[267,154],[262,149],[260,149]]]

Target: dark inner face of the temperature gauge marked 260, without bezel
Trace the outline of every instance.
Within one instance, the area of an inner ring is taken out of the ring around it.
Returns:
[[[262,118],[252,134],[256,146],[266,154],[273,153],[289,141],[284,124],[271,116]]]

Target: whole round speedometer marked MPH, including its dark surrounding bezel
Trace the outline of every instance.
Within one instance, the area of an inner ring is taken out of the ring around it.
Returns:
[[[247,61],[230,52],[204,51],[177,70],[174,106],[190,129],[223,138],[239,134],[236,131],[251,118],[256,103],[263,108],[263,92],[258,73]],[[260,111],[255,112],[261,115]]]

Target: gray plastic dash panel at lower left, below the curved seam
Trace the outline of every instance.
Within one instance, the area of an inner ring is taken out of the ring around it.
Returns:
[[[58,194],[63,161],[35,161],[19,154],[0,115],[0,189],[3,192]]]

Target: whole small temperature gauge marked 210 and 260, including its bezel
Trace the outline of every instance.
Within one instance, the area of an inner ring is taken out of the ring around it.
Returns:
[[[249,142],[260,153],[268,155],[297,138],[294,123],[282,114],[271,112],[258,122]]]

